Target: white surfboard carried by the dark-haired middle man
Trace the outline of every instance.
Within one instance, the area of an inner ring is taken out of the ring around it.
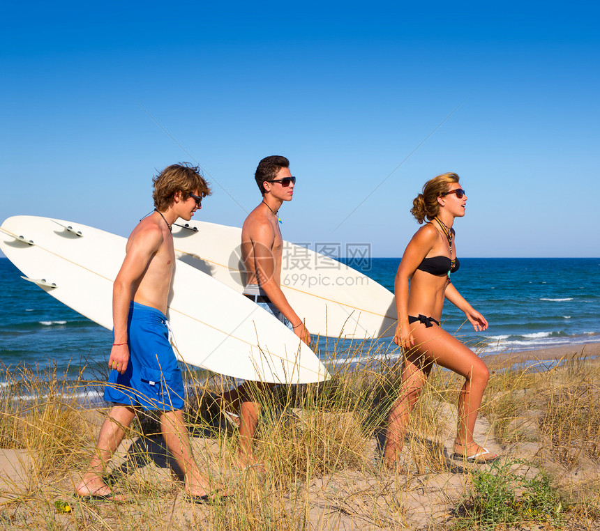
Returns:
[[[197,221],[181,225],[173,226],[179,260],[241,293],[246,284],[241,229]],[[283,247],[281,289],[311,334],[370,339],[396,330],[391,291],[329,256],[289,242]]]

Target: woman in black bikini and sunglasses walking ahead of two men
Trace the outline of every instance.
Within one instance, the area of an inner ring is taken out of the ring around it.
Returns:
[[[414,199],[412,215],[422,224],[407,245],[396,273],[398,326],[393,341],[405,353],[400,396],[389,417],[384,461],[392,468],[400,453],[410,412],[417,403],[434,363],[465,377],[458,399],[458,433],[453,457],[468,461],[493,461],[497,456],[473,440],[481,397],[490,373],[486,364],[458,339],[440,328],[444,298],[465,312],[474,330],[488,322],[475,311],[450,282],[458,270],[454,229],[456,217],[465,215],[467,196],[458,175],[442,174],[423,186]],[[410,281],[410,288],[409,288]]]

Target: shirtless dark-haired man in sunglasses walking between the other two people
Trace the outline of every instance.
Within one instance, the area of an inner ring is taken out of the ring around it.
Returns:
[[[281,262],[283,238],[279,230],[278,210],[284,201],[292,201],[296,178],[290,173],[290,161],[273,155],[262,159],[255,172],[255,180],[262,193],[262,201],[246,217],[241,229],[241,256],[246,266],[246,288],[243,294],[273,314],[279,321],[294,330],[306,344],[310,334],[304,321],[287,302],[281,291]],[[239,465],[256,465],[252,441],[260,404],[252,396],[252,387],[264,390],[272,384],[243,383],[225,394],[225,402],[239,404]]]

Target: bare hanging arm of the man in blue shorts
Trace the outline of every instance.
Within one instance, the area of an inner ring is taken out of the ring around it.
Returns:
[[[112,325],[114,344],[108,359],[108,368],[124,374],[129,362],[127,346],[127,318],[133,298],[133,286],[144,275],[153,256],[163,243],[163,233],[157,226],[147,225],[130,236],[127,254],[112,286]]]

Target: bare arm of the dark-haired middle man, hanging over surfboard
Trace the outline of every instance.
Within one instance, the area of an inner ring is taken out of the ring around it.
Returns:
[[[267,294],[273,305],[292,323],[294,334],[296,334],[307,345],[310,345],[310,333],[304,326],[304,321],[298,316],[287,302],[287,298],[281,291],[275,279],[275,259],[273,258],[273,241],[275,233],[270,225],[257,225],[250,233],[252,240],[255,271],[260,287]]]

